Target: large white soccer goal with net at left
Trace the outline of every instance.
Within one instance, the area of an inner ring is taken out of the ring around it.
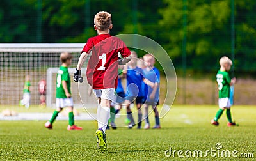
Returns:
[[[40,104],[38,82],[46,80],[46,105],[55,108],[56,73],[60,68],[60,53],[72,53],[72,65],[68,66],[71,80],[76,70],[83,43],[1,43],[0,44],[0,104],[19,105],[22,99],[26,75],[30,77],[31,105]],[[87,63],[87,62],[86,62]],[[84,63],[84,66],[86,66]],[[86,68],[82,69],[86,80]],[[94,96],[88,96],[88,84],[71,81],[75,107],[95,108]],[[83,99],[83,102],[81,101]]]

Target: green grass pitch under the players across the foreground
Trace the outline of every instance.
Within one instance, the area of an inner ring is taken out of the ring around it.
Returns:
[[[232,118],[238,127],[227,127],[225,113],[219,127],[211,125],[217,110],[216,105],[173,105],[161,119],[160,130],[108,130],[108,150],[104,152],[97,149],[96,121],[76,121],[84,128],[82,131],[67,131],[67,121],[56,121],[53,130],[44,127],[45,121],[0,121],[0,160],[255,159],[256,108],[232,107]],[[154,115],[150,116],[150,123],[154,125]],[[218,143],[222,145],[219,150]],[[179,150],[184,158],[179,157]],[[207,150],[216,150],[216,156],[214,151],[205,153]],[[202,151],[202,157],[195,151]],[[230,157],[225,153],[221,157],[222,151],[230,151]],[[234,151],[237,152],[232,156]]]

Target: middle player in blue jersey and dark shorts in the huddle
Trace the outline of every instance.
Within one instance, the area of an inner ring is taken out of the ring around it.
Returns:
[[[142,112],[141,112],[141,106],[144,102],[144,93],[142,90],[142,84],[143,84],[143,70],[136,66],[136,62],[138,59],[138,56],[136,52],[131,51],[132,59],[127,63],[125,75],[127,79],[127,88],[126,88],[126,95],[124,104],[126,105],[127,109],[127,118],[130,120],[130,123],[128,125],[129,128],[132,128],[135,125],[134,119],[132,117],[132,111],[130,108],[130,105],[132,102],[136,102],[136,106],[138,109],[138,129],[141,128],[141,121],[142,121]]]

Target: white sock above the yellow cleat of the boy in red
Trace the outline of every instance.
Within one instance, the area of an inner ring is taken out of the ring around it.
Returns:
[[[106,128],[108,125],[108,119],[110,117],[110,108],[109,107],[101,107],[100,116],[98,118],[98,128],[102,128],[103,132],[106,132]]]

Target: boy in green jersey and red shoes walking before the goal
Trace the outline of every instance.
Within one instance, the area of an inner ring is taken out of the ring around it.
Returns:
[[[74,113],[73,113],[73,99],[71,97],[71,81],[68,73],[68,66],[72,63],[72,55],[68,52],[62,52],[60,54],[60,61],[62,65],[57,72],[56,81],[56,110],[52,114],[52,118],[45,123],[45,127],[52,129],[52,123],[58,116],[58,113],[67,107],[68,110],[68,127],[67,130],[82,130],[81,127],[74,125]]]

